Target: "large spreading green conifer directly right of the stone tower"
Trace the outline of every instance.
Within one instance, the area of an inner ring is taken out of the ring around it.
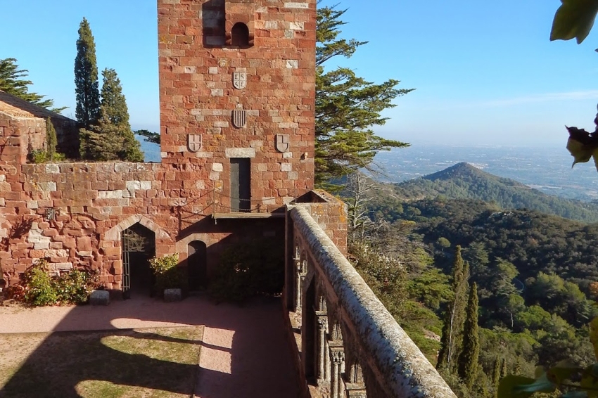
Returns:
[[[396,89],[398,80],[367,82],[348,68],[324,70],[336,56],[349,58],[364,41],[339,39],[345,11],[318,8],[316,47],[315,182],[326,186],[338,178],[367,168],[379,150],[401,148],[407,143],[383,139],[371,129],[386,122],[380,113],[393,108],[392,101],[412,89]]]

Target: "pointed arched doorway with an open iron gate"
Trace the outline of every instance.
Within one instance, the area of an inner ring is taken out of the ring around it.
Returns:
[[[148,259],[155,256],[155,234],[141,224],[133,224],[121,233],[122,293],[152,295],[153,274]]]

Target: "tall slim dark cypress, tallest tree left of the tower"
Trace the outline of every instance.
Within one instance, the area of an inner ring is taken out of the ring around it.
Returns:
[[[79,25],[77,57],[75,58],[75,94],[77,94],[77,120],[89,127],[98,121],[100,93],[98,90],[98,67],[96,44],[87,19]]]

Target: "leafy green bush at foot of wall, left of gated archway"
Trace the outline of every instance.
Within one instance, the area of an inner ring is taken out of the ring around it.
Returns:
[[[79,269],[55,276],[49,272],[49,262],[40,259],[25,271],[20,283],[8,288],[8,298],[34,306],[83,304],[91,290],[100,287],[98,274]]]

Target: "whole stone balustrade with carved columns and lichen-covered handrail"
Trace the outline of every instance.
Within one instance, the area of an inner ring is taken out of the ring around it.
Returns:
[[[299,371],[320,397],[455,394],[310,215],[287,212],[285,300],[300,329]],[[292,281],[292,283],[291,283]]]

